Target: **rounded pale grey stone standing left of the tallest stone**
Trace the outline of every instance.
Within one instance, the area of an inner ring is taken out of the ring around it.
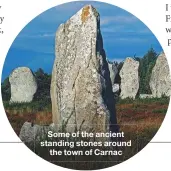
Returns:
[[[9,76],[11,84],[10,102],[31,102],[37,90],[37,82],[32,71],[27,67],[15,69]]]

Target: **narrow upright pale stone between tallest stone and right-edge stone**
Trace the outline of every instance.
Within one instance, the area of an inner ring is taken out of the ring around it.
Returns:
[[[121,98],[135,99],[139,89],[138,77],[139,62],[128,57],[119,73],[121,77]]]

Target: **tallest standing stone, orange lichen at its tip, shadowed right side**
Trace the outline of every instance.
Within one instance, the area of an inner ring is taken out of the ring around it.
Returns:
[[[117,123],[115,101],[95,8],[85,6],[59,26],[55,51],[53,122],[69,132],[108,132]]]

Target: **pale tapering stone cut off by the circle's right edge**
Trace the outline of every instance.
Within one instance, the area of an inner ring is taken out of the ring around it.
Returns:
[[[151,73],[150,89],[153,97],[171,95],[171,79],[169,65],[164,53],[161,53]]]

